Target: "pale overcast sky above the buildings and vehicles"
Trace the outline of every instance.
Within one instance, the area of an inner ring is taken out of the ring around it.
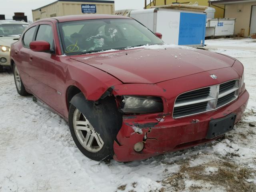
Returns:
[[[32,9],[42,7],[56,0],[1,0],[0,14],[6,19],[12,19],[14,12],[24,12],[28,20],[32,21]],[[115,9],[143,9],[144,0],[114,0]],[[149,2],[149,0],[148,0]]]

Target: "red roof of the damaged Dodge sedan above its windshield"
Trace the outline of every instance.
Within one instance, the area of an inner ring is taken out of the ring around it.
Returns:
[[[107,15],[107,14],[84,14],[84,15],[68,15],[68,16],[60,16],[60,17],[51,17],[46,19],[40,19],[39,21],[49,21],[52,19],[58,20],[58,22],[68,22],[68,21],[78,21],[78,20],[92,20],[92,19],[132,19],[126,16],[118,16],[118,15]]]

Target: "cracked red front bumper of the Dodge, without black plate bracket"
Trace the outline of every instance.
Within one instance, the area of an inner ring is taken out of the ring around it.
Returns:
[[[170,114],[124,116],[117,135],[118,142],[114,142],[114,159],[119,162],[142,160],[209,142],[211,140],[206,139],[206,134],[210,120],[234,113],[237,123],[246,109],[248,98],[245,90],[237,100],[218,110],[179,119],[172,118]],[[159,122],[156,118],[164,121]],[[142,141],[144,149],[135,152],[134,144]]]

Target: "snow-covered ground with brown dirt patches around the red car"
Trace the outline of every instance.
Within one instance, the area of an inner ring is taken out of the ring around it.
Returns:
[[[83,156],[67,123],[31,96],[19,96],[12,74],[0,73],[0,192],[256,191],[256,42],[206,44],[244,64],[250,93],[244,118],[218,141],[126,164]]]

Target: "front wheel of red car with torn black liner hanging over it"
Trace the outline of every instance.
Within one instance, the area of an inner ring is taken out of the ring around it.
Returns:
[[[96,105],[83,96],[83,100],[78,103],[83,112],[70,104],[68,116],[70,132],[76,146],[92,160],[111,159],[114,155],[114,140],[122,126],[122,116],[117,111],[115,100],[105,98]]]

